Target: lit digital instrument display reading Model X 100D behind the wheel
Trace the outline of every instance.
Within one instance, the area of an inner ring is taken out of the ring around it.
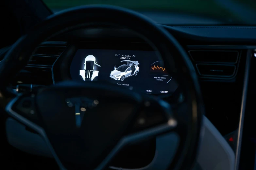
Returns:
[[[178,88],[154,51],[79,49],[70,75],[76,80],[108,81],[152,94],[170,94]]]

